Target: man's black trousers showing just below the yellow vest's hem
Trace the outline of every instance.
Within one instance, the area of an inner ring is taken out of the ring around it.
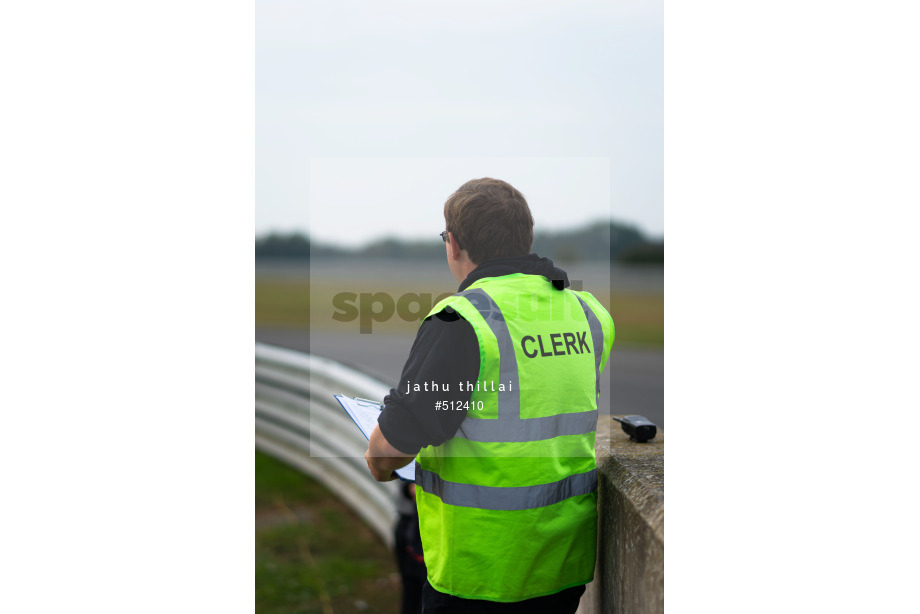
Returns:
[[[584,592],[585,585],[582,584],[545,597],[499,603],[445,595],[425,580],[422,588],[422,614],[575,614]]]

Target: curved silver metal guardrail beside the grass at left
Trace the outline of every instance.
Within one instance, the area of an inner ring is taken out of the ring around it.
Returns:
[[[380,399],[383,382],[328,358],[256,344],[256,448],[314,477],[393,546],[396,482],[371,477],[367,440],[333,394]]]

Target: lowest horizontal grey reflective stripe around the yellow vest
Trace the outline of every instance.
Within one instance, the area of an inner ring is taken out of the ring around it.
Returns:
[[[415,463],[415,482],[442,503],[483,510],[532,510],[587,495],[597,488],[597,469],[576,473],[558,482],[535,486],[477,486],[449,482]]]

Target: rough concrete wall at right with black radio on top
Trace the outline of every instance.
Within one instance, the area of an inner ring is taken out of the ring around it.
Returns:
[[[637,443],[597,428],[598,554],[579,614],[664,612],[664,433]]]

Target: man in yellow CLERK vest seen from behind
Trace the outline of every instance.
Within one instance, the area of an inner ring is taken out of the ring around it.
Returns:
[[[386,481],[416,460],[423,612],[574,612],[594,575],[613,320],[530,253],[533,217],[509,184],[465,183],[444,218],[460,288],[419,328],[368,468]]]

